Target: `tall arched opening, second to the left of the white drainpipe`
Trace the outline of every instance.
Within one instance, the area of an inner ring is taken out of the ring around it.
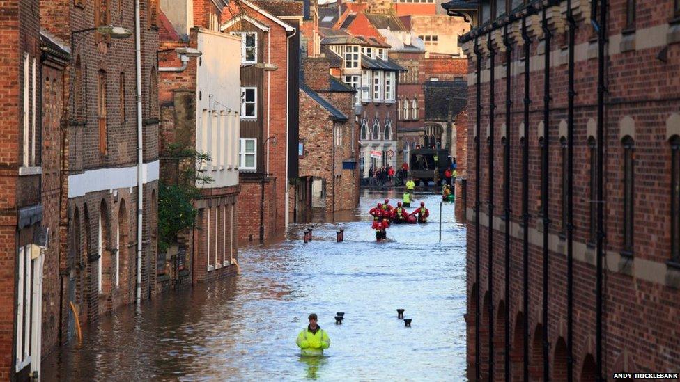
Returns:
[[[98,282],[101,282],[99,287],[99,292],[101,294],[99,299],[100,314],[111,310],[111,296],[114,287],[115,258],[114,253],[111,250],[110,216],[107,202],[102,199],[100,202],[97,230],[97,248],[99,255]]]

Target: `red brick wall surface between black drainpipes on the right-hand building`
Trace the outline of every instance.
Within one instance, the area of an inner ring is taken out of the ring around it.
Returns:
[[[675,140],[680,135],[680,103],[677,89],[680,79],[680,40],[677,25],[669,24],[674,17],[672,1],[638,1],[635,5],[635,24],[626,24],[626,1],[608,1],[608,41],[605,51],[605,121],[604,141],[596,141],[597,121],[597,41],[589,22],[588,2],[572,2],[578,20],[575,31],[575,122],[574,122],[574,184],[573,184],[573,376],[582,381],[596,377],[596,250],[592,223],[592,161],[596,145],[604,147],[601,176],[604,177],[603,246],[603,378],[616,372],[677,372],[677,342],[680,328],[680,268],[672,254],[672,243],[680,238],[672,233],[672,171]],[[548,136],[543,136],[543,86],[545,81],[545,42],[539,15],[530,17],[531,69],[530,93],[524,93],[523,43],[518,33],[513,33],[511,60],[511,120],[505,129],[506,67],[504,52],[495,56],[496,81],[494,85],[495,115],[493,136],[489,136],[490,73],[488,33],[479,38],[481,57],[481,88],[475,86],[477,58],[472,53],[474,42],[466,44],[470,56],[470,91],[468,94],[470,122],[468,124],[467,218],[468,218],[468,370],[474,376],[475,356],[480,356],[482,378],[489,372],[490,341],[494,344],[494,378],[502,379],[504,372],[504,324],[510,320],[511,374],[520,379],[523,369],[523,317],[528,317],[530,367],[532,379],[561,380],[569,367],[566,358],[566,246],[564,237],[565,193],[562,174],[566,152],[564,141],[568,96],[568,41],[564,33],[564,13],[559,7],[548,9],[548,20],[553,38],[550,44],[552,60],[549,69],[550,119]],[[521,12],[520,12],[521,14]],[[515,22],[513,30],[516,29]],[[501,29],[502,31],[502,29]],[[502,47],[502,33],[494,32],[493,44]],[[479,131],[475,110],[477,92],[481,92],[481,121]],[[530,105],[529,135],[523,136],[523,99]],[[481,142],[479,153],[475,140]],[[511,143],[510,184],[504,184],[502,139]],[[495,145],[493,162],[495,171],[489,174],[488,140]],[[522,146],[529,147],[529,214],[528,227],[522,221],[523,171]],[[543,141],[544,148],[539,146]],[[629,148],[626,149],[626,146]],[[541,171],[541,150],[548,150],[549,168]],[[634,153],[634,154],[633,154]],[[475,157],[480,155],[481,167],[475,167]],[[626,161],[630,158],[630,161]],[[627,171],[626,162],[632,164]],[[461,166],[461,162],[459,162]],[[481,172],[479,180],[477,171]],[[460,170],[459,170],[460,171]],[[541,216],[541,177],[548,176],[547,227]],[[626,177],[628,174],[628,177]],[[488,201],[489,176],[493,176],[493,276],[489,275],[488,253]],[[624,193],[626,179],[633,180],[632,198]],[[480,200],[475,200],[479,184]],[[596,184],[596,183],[595,183]],[[510,221],[503,221],[504,187],[511,192]],[[479,232],[476,232],[474,207],[479,202]],[[624,215],[626,203],[631,206],[631,217]],[[626,223],[634,230],[626,232]],[[504,237],[510,226],[510,300],[504,298]],[[543,232],[548,230],[548,274],[543,273]],[[529,230],[529,311],[523,311],[523,240],[524,230]],[[479,242],[475,241],[479,234]],[[626,238],[626,235],[632,237]],[[632,245],[628,246],[628,239]],[[475,273],[476,251],[479,250],[480,273]],[[543,277],[548,278],[548,290],[543,289]],[[493,289],[488,288],[493,278]],[[479,289],[479,294],[477,290]],[[548,294],[548,321],[542,318],[542,301]],[[481,304],[481,305],[480,305]],[[490,310],[489,308],[493,308]],[[481,310],[479,335],[480,348],[475,349],[475,315]],[[489,323],[493,312],[494,321]],[[489,338],[493,325],[494,335]],[[543,331],[548,333],[548,369],[543,375]]]

